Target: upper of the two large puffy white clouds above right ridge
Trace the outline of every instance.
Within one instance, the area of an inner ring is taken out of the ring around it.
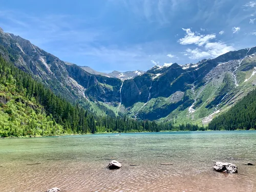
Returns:
[[[183,28],[182,28],[183,29]],[[178,42],[181,45],[191,45],[196,44],[198,46],[205,45],[210,39],[215,39],[215,34],[208,34],[208,35],[196,35],[194,32],[192,32],[189,28],[183,29],[183,31],[186,31],[186,36],[184,38],[180,38]]]

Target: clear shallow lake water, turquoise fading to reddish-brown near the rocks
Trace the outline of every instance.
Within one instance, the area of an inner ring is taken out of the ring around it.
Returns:
[[[256,166],[243,165],[256,164],[256,131],[115,135],[1,139],[1,191],[256,191]],[[123,167],[106,169],[113,159]]]

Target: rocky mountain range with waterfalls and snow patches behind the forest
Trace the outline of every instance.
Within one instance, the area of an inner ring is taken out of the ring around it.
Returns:
[[[146,72],[100,73],[0,30],[0,54],[52,91],[100,115],[208,124],[253,90],[256,47]]]

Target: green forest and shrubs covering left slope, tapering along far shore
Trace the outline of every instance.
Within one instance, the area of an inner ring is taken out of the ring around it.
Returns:
[[[197,125],[158,124],[126,116],[96,116],[56,96],[0,56],[0,137],[51,136],[110,132],[204,130]]]

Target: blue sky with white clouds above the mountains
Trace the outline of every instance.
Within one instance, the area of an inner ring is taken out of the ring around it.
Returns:
[[[0,27],[100,72],[146,71],[256,46],[256,1],[0,0]]]

